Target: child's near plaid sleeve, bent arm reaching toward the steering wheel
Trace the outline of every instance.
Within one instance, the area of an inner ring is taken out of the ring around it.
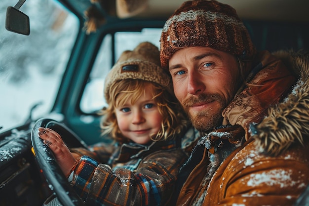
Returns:
[[[157,151],[132,172],[125,168],[112,170],[83,156],[73,168],[71,185],[89,206],[166,205],[186,159],[181,149]]]

